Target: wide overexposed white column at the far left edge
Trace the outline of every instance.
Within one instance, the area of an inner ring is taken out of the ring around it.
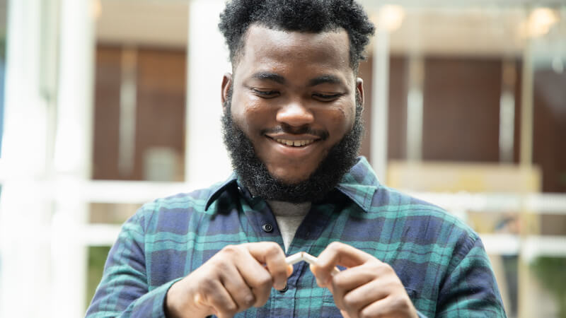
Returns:
[[[41,317],[50,298],[50,205],[47,178],[51,69],[42,63],[51,0],[8,5],[5,130],[0,196],[0,317]],[[42,46],[43,44],[43,46]]]

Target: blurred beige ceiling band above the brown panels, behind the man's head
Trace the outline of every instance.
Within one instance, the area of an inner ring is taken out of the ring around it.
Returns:
[[[187,45],[187,0],[100,0],[99,3],[98,42]],[[384,3],[362,1],[376,24]],[[446,0],[395,1],[403,4],[403,19],[400,27],[391,32],[391,51],[423,55],[522,54],[529,37],[524,35],[521,25],[529,18],[532,3],[526,0],[457,1],[456,4]],[[538,47],[544,48],[543,52],[558,50],[566,54],[566,4],[551,0],[536,3],[550,6],[558,17],[547,34],[535,39]]]

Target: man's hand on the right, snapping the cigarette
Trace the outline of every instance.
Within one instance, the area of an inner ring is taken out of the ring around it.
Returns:
[[[331,275],[336,265],[347,269]],[[330,289],[345,317],[417,317],[417,310],[393,268],[350,245],[333,242],[311,271]]]

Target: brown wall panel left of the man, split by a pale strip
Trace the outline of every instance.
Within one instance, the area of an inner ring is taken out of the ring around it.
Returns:
[[[185,51],[137,49],[134,166],[118,171],[122,47],[98,45],[94,107],[93,179],[146,179],[146,151],[169,148],[183,175],[185,153]],[[179,180],[178,180],[179,181]]]

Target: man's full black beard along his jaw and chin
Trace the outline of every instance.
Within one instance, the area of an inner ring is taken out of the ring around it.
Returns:
[[[230,154],[233,169],[253,196],[265,200],[287,201],[295,204],[321,201],[340,182],[346,172],[357,163],[362,143],[364,124],[362,104],[356,97],[354,126],[336,143],[316,170],[304,181],[289,184],[273,177],[264,163],[255,155],[253,144],[233,122],[231,93],[224,104],[222,135]]]

